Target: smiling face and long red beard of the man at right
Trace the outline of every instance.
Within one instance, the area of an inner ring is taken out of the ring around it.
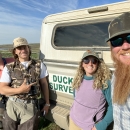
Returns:
[[[128,36],[129,34],[118,36],[117,38],[123,38],[122,44],[111,46],[112,58],[116,67],[113,102],[118,104],[124,104],[130,95],[130,42]]]

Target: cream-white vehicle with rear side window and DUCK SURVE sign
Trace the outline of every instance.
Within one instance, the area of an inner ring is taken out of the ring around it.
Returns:
[[[40,59],[49,72],[50,112],[47,119],[68,130],[73,103],[71,83],[82,54],[94,49],[113,69],[106,43],[110,21],[130,11],[130,1],[47,16],[42,23]]]

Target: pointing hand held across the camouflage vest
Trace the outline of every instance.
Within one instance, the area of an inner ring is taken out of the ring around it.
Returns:
[[[19,87],[20,93],[28,93],[31,89],[31,86],[36,84],[36,82],[27,84],[26,79],[24,79],[22,85]]]

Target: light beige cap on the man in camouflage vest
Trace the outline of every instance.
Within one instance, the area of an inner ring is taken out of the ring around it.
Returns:
[[[28,42],[25,38],[17,37],[13,40],[13,48],[23,46],[23,45],[28,45]]]

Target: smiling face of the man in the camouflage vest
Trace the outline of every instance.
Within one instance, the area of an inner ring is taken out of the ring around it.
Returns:
[[[19,61],[29,60],[29,48],[26,45],[19,46],[15,49],[15,54],[18,55]]]

